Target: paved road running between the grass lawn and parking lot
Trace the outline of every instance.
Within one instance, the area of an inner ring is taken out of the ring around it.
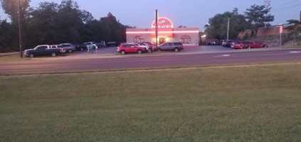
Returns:
[[[96,55],[96,54],[95,54]],[[98,55],[95,57],[99,57]],[[61,57],[65,58],[65,57]],[[300,61],[301,49],[241,50],[233,53],[171,53],[144,55],[114,55],[102,58],[66,58],[52,60],[0,62],[0,73],[56,72],[72,70],[101,70],[136,67],[169,67],[181,65],[221,65],[248,62]]]

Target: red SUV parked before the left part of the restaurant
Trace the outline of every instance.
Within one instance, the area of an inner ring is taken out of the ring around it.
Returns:
[[[145,48],[139,47],[135,45],[134,43],[125,43],[121,44],[119,47],[117,47],[117,52],[121,55],[125,55],[126,53],[144,53],[146,51]]]

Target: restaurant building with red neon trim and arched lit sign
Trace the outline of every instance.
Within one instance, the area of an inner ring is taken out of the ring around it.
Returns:
[[[127,28],[127,43],[156,43],[156,23],[152,28]],[[199,45],[199,28],[174,28],[169,18],[158,18],[158,44],[181,42],[184,45]]]

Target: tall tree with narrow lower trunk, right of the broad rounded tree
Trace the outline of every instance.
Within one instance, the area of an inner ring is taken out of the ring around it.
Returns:
[[[274,16],[270,15],[269,11],[271,8],[266,9],[266,7],[253,5],[245,11],[245,18],[251,25],[251,30],[254,33],[254,38],[257,37],[258,29],[265,26],[265,22],[274,21]]]

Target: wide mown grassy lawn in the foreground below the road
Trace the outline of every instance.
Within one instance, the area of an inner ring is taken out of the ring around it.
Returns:
[[[301,65],[0,76],[0,141],[301,141]]]

